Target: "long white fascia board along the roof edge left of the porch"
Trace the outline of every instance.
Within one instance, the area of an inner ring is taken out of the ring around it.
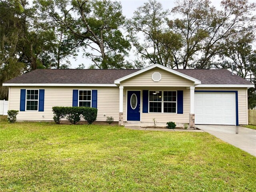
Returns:
[[[76,84],[76,83],[3,83],[3,86],[66,86],[66,87],[116,87],[116,84]]]

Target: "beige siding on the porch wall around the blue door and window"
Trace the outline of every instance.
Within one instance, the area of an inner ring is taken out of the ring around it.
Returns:
[[[130,103],[127,101],[127,90],[140,90],[141,91],[141,121],[142,122],[152,122],[152,119],[155,118],[157,122],[168,122],[173,121],[176,123],[188,123],[189,122],[189,113],[190,113],[190,90],[186,88],[177,88],[177,87],[158,87],[158,88],[143,88],[139,87],[138,89],[134,89],[132,87],[128,87],[124,89],[124,121],[126,121],[126,104]],[[174,114],[174,113],[142,113],[143,104],[143,91],[142,90],[183,90],[183,114]]]

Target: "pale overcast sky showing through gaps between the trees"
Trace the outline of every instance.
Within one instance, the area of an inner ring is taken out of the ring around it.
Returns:
[[[32,4],[33,0],[28,0],[30,2],[30,5]],[[120,0],[122,4],[123,14],[126,16],[126,18],[131,18],[133,15],[133,12],[138,8],[139,6],[142,6],[147,0]],[[175,6],[175,0],[158,0],[158,2],[162,3],[164,9],[171,10]],[[220,8],[220,2],[221,0],[212,0],[212,5],[215,6],[217,9]],[[254,2],[254,0],[249,0],[249,2]],[[134,54],[131,51],[130,52],[130,59],[134,59]],[[92,64],[92,61],[90,59],[86,59],[83,57],[83,52],[80,51],[78,53],[78,56],[76,59],[70,58],[71,68],[78,67],[79,64],[84,64],[86,68]]]

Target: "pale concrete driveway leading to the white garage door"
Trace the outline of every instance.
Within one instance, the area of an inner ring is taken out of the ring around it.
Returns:
[[[256,156],[256,130],[228,125],[196,125],[196,127]]]

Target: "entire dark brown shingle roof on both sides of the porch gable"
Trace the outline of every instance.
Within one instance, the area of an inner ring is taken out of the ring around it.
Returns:
[[[114,80],[132,74],[136,69],[36,69],[5,83],[22,84],[114,84]],[[201,84],[252,84],[225,69],[176,69],[196,78]]]

